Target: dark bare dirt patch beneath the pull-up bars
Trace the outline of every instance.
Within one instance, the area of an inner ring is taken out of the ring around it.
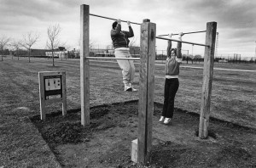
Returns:
[[[144,167],[131,161],[137,138],[137,101],[90,109],[90,126],[80,125],[80,109],[52,113],[32,122],[63,167]],[[209,138],[197,137],[199,116],[176,109],[172,125],[158,122],[154,104],[153,147],[148,167],[255,167],[256,131],[212,119]]]

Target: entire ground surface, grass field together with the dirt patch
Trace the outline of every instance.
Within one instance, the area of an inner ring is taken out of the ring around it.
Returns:
[[[135,65],[138,88],[140,67]],[[79,67],[74,59],[55,59],[55,67],[51,59],[0,61],[0,168],[140,167],[131,162],[139,92],[123,91],[116,61],[91,60],[90,126],[82,127]],[[183,64],[175,99],[178,109],[172,125],[165,126],[158,122],[164,65],[156,63],[148,167],[255,167],[256,64],[214,64],[236,70],[214,70],[207,140],[196,137],[203,74],[198,67],[202,64]],[[38,72],[59,70],[67,72],[68,115],[63,118],[58,112],[61,104],[49,104],[47,120],[40,121]]]

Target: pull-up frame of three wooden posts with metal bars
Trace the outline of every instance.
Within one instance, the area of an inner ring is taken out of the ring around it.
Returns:
[[[90,61],[96,59],[89,57],[89,5],[81,5],[81,55],[80,55],[80,85],[81,85],[81,124],[90,124]],[[102,17],[109,19],[106,17]],[[137,145],[134,146],[134,160],[139,164],[146,164],[150,160],[152,146],[152,123],[154,112],[154,62],[155,62],[155,39],[171,40],[156,37],[156,25],[150,20],[143,20],[140,36],[140,70],[139,70],[139,104],[138,104],[138,137]],[[206,44],[197,44],[205,47],[203,86],[201,94],[201,116],[199,137],[207,138],[210,116],[210,103],[212,93],[212,74],[217,23],[207,23]],[[172,41],[175,41],[172,39]],[[176,42],[183,42],[177,41]],[[184,42],[188,43],[188,42]],[[190,42],[191,43],[191,42]],[[97,58],[102,59],[102,58]],[[104,58],[106,59],[106,58]],[[111,58],[113,59],[113,58]],[[131,157],[132,160],[132,157]]]

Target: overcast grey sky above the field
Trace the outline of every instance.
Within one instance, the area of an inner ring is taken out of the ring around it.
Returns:
[[[137,23],[149,19],[156,24],[157,35],[205,31],[207,22],[216,21],[218,54],[255,54],[256,0],[0,0],[0,36],[19,40],[29,31],[37,32],[40,41],[32,48],[45,48],[47,28],[60,24],[61,42],[79,48],[81,4],[90,5],[90,14]],[[112,23],[90,16],[90,42],[96,48],[111,45]],[[140,25],[131,26],[138,45]],[[127,29],[122,23],[122,30]],[[205,33],[184,35],[183,41],[205,43],[205,37]],[[166,41],[157,39],[156,46],[166,50]],[[183,50],[204,53],[203,47],[189,44],[183,44]]]

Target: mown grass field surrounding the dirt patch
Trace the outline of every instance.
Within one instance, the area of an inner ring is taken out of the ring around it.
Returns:
[[[55,67],[51,59],[31,60],[28,63],[24,58],[5,58],[0,62],[0,167],[61,167],[28,118],[39,115],[38,71],[65,70],[67,110],[80,108],[79,60],[55,59]],[[202,64],[183,64],[175,103],[177,109],[198,114],[202,70],[191,66],[202,67]],[[256,64],[215,64],[214,68],[217,69],[213,72],[211,116],[256,129]],[[139,64],[136,69],[135,87],[138,87]],[[163,103],[163,71],[163,64],[157,63],[154,101],[160,104]],[[90,107],[138,99],[138,92],[123,89],[121,71],[115,61],[90,62]],[[60,111],[61,104],[51,104],[46,110],[49,114]]]

